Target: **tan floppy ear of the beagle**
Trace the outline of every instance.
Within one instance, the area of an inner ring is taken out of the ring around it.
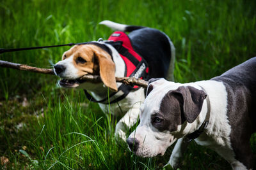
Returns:
[[[117,91],[116,78],[115,78],[115,63],[111,59],[108,52],[97,48],[93,50],[96,59],[99,61],[100,78],[106,87],[113,91]]]

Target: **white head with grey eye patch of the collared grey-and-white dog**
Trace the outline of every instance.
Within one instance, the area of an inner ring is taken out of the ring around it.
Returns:
[[[149,81],[140,124],[127,139],[129,148],[141,157],[163,155],[168,146],[188,134],[188,124],[196,120],[206,97],[195,87],[163,78],[153,81]]]

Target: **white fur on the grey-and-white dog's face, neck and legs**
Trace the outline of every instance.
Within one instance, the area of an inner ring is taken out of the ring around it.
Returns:
[[[211,115],[207,129],[195,141],[198,145],[208,146],[215,150],[230,162],[233,169],[244,169],[243,164],[235,159],[234,151],[230,144],[231,127],[227,118],[227,91],[222,82],[209,80],[181,84],[160,79],[150,83],[150,85],[153,86],[153,90],[145,99],[144,109],[141,111],[140,125],[129,136],[129,138],[136,138],[140,143],[136,155],[152,157],[163,154],[168,146],[172,145],[176,139],[179,139],[168,162],[172,167],[177,167],[179,159],[182,157],[182,150],[184,150],[182,137],[196,131],[204,122],[208,109],[206,100],[198,118],[191,124],[185,122],[180,125],[175,132],[157,131],[152,126],[150,117],[153,113],[159,111],[161,101],[169,90],[175,90],[180,86],[192,86],[200,90],[203,87],[209,96]],[[144,146],[147,146],[147,150],[143,148]]]

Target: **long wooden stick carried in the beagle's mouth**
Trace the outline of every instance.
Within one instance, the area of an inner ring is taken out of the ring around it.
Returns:
[[[35,73],[44,73],[44,74],[52,74],[52,75],[54,74],[52,69],[32,67],[32,66],[27,66],[25,64],[18,64],[14,62],[3,61],[3,60],[0,60],[0,66],[9,67],[12,69],[24,70],[24,71],[31,71]],[[102,82],[100,76],[92,75],[92,74],[86,74],[82,76],[81,80],[87,80],[93,83]],[[137,79],[134,77],[116,77],[116,82],[125,83],[125,85],[138,85],[139,87],[143,87],[143,88],[147,88],[148,86],[148,81]]]

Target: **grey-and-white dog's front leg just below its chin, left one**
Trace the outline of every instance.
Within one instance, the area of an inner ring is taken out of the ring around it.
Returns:
[[[173,148],[172,155],[168,164],[170,164],[173,169],[177,169],[179,166],[180,158],[182,157],[183,153],[185,152],[186,148],[188,147],[189,143],[184,143],[184,138],[178,139],[176,145]]]

